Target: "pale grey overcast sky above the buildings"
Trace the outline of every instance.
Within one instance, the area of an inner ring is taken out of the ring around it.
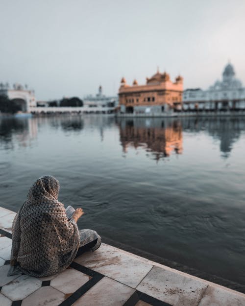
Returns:
[[[228,59],[245,85],[244,0],[0,0],[0,82],[39,100],[114,95],[157,66],[206,89]]]

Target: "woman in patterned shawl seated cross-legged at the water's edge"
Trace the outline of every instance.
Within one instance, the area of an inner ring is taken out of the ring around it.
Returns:
[[[81,208],[68,220],[64,205],[58,201],[59,188],[52,176],[41,177],[30,188],[13,221],[8,276],[53,275],[65,270],[84,251],[100,246],[101,238],[95,231],[78,231]]]

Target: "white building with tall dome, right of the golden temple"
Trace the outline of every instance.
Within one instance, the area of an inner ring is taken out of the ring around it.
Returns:
[[[204,91],[200,88],[186,89],[183,92],[184,111],[239,111],[245,110],[245,88],[235,77],[233,66],[224,68],[222,81]]]

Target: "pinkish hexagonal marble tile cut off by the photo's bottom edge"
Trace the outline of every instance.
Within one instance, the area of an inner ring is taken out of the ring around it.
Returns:
[[[50,286],[45,286],[25,298],[21,306],[58,306],[64,300],[64,293]]]

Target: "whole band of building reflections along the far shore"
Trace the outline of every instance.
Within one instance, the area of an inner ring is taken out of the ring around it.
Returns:
[[[62,116],[44,118],[1,118],[0,143],[5,148],[13,148],[13,139],[19,145],[28,146],[37,137],[39,127],[48,124],[52,129],[79,132],[84,124],[97,128],[103,141],[105,128],[111,128],[115,118]],[[241,132],[245,131],[245,118],[135,118],[116,121],[120,129],[120,141],[123,151],[128,147],[143,147],[154,155],[155,160],[171,154],[183,152],[183,132],[205,132],[220,141],[223,158],[229,157],[233,145],[238,141]],[[7,146],[7,147],[6,147]]]

